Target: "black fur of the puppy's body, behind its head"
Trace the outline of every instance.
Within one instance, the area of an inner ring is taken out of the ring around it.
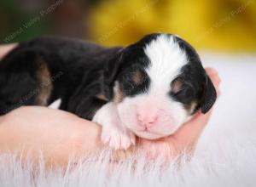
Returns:
[[[90,107],[101,106],[102,71],[120,48],[102,48],[91,42],[56,37],[38,37],[20,45],[0,62],[0,114],[20,105],[36,105],[39,85],[35,73],[44,61],[53,90],[48,105],[61,98],[61,109],[90,119]],[[33,93],[31,97],[27,97]],[[26,98],[26,99],[24,99]]]

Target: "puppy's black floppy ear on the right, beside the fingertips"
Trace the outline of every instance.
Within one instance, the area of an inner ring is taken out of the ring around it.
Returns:
[[[210,77],[206,76],[205,93],[201,101],[201,111],[203,114],[206,114],[207,111],[209,111],[212,108],[212,105],[215,103],[216,99],[217,94],[213,86],[213,83]]]

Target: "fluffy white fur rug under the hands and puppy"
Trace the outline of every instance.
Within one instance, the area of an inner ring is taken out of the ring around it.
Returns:
[[[25,166],[16,156],[0,156],[0,186],[256,186],[256,56],[204,54],[204,65],[216,68],[222,78],[222,95],[211,122],[201,136],[195,156],[161,165],[137,156],[108,167],[108,151],[98,159],[84,158],[76,167],[44,172],[37,177],[32,163]]]

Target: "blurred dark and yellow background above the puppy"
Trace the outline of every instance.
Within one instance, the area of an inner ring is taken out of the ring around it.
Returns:
[[[255,0],[21,0],[22,6],[17,2],[0,3],[3,43],[50,34],[113,46],[135,42],[150,32],[167,32],[201,50],[256,52]],[[47,9],[51,11],[42,15]],[[26,28],[24,23],[33,19],[35,23]],[[20,26],[23,31],[6,40]]]

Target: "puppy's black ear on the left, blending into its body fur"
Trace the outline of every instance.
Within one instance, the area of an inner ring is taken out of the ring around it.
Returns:
[[[113,54],[113,57],[108,60],[107,65],[104,70],[104,82],[108,86],[113,85],[116,77],[118,76],[119,69],[122,65],[122,49],[119,50],[116,54]]]

